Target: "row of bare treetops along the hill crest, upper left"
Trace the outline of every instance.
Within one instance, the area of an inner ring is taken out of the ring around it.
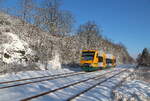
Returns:
[[[5,1],[1,0],[1,11],[22,19],[24,23],[32,24],[53,35],[66,35],[72,31],[74,16],[60,8],[61,0],[17,0],[16,7],[3,7]]]

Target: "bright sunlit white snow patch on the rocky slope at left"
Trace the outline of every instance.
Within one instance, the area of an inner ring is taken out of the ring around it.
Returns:
[[[9,55],[9,57],[5,57],[3,55],[2,60],[5,63],[20,63],[20,59],[22,59],[27,54],[33,54],[34,52],[29,48],[29,45],[21,40],[17,35],[5,32],[3,35],[10,38],[8,43],[4,43],[1,45],[3,47],[3,53]],[[22,54],[19,51],[25,52]]]

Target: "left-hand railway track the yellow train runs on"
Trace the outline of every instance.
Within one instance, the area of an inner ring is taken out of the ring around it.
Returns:
[[[79,74],[87,74],[87,72],[69,72],[69,73],[62,73],[57,75],[47,75],[47,76],[27,78],[27,79],[5,81],[5,82],[0,82],[0,89],[22,86],[26,84],[38,83],[42,81],[54,80],[59,78],[65,78],[65,77],[75,76]],[[3,86],[4,84],[5,86]]]

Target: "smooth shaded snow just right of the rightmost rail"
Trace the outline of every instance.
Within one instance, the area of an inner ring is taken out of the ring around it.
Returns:
[[[85,94],[77,97],[76,101],[112,101],[112,90],[121,82],[121,80],[127,76],[128,73],[116,76],[108,81],[96,86]]]

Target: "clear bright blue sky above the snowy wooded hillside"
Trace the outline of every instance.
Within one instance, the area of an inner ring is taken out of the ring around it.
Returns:
[[[16,6],[17,0],[5,1]],[[62,0],[61,9],[72,12],[76,27],[94,21],[104,37],[123,43],[133,57],[150,48],[150,0]]]

